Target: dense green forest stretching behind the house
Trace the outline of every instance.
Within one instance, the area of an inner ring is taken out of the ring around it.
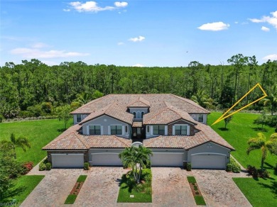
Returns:
[[[0,67],[0,116],[4,118],[45,116],[55,108],[107,94],[171,93],[196,101],[206,108],[228,108],[256,83],[260,83],[276,111],[277,61],[259,65],[256,57],[238,54],[227,65],[188,67],[121,67],[62,62],[48,66],[39,60],[21,64],[6,62]],[[255,89],[240,106],[262,96]],[[82,102],[82,103],[81,103]],[[251,106],[261,110],[262,103]],[[238,106],[239,107],[239,106]]]

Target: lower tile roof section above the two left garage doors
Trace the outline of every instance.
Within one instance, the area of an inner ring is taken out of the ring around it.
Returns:
[[[131,146],[131,140],[115,135],[81,135],[76,126],[66,130],[55,138],[43,150],[89,150],[89,148],[125,148]],[[79,126],[80,128],[80,126]]]

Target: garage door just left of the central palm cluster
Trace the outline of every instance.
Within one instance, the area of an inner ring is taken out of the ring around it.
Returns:
[[[92,153],[92,165],[122,165],[119,153]]]

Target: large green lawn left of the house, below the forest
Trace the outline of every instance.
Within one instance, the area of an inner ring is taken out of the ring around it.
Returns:
[[[67,125],[72,125],[72,121]],[[31,142],[31,148],[23,152],[17,147],[17,160],[19,162],[32,161],[36,165],[46,156],[46,152],[41,148],[60,135],[64,128],[65,123],[58,119],[0,123],[0,141],[9,140],[11,133],[14,133],[16,138],[21,135],[26,136]]]

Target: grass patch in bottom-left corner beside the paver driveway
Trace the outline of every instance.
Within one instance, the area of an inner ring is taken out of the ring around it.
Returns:
[[[8,203],[16,199],[16,203],[22,203],[25,198],[43,179],[44,175],[24,175],[14,181],[14,186],[6,193],[4,199],[0,203]]]

